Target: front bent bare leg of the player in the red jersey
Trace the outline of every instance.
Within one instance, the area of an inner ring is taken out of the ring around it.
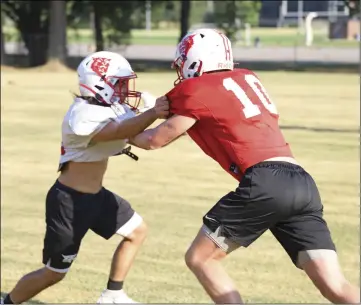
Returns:
[[[188,249],[185,260],[213,302],[242,304],[241,295],[221,265],[226,255],[201,229]]]

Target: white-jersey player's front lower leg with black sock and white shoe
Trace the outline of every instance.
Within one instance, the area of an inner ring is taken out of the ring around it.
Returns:
[[[135,303],[124,293],[123,283],[146,234],[147,227],[142,222],[118,245],[113,255],[107,289],[102,292],[97,303]]]

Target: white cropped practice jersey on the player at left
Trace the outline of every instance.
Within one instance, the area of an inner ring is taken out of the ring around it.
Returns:
[[[111,121],[134,117],[127,105],[103,107],[76,98],[66,113],[62,124],[60,164],[68,161],[95,162],[120,153],[127,139],[92,143],[92,137]]]

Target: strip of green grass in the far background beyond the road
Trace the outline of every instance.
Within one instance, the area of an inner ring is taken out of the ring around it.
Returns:
[[[18,36],[14,28],[5,27],[5,39],[7,41],[17,40]],[[178,29],[154,29],[151,32],[145,30],[132,30],[131,44],[138,45],[176,45],[179,38]],[[242,35],[244,32],[242,31]],[[261,39],[262,46],[304,46],[305,35],[304,33],[298,33],[296,28],[252,28],[251,40],[256,37]],[[93,32],[89,29],[80,30],[68,30],[68,42],[69,43],[94,43]],[[244,42],[239,41],[236,43],[238,46],[243,46]],[[354,40],[330,40],[327,37],[327,32],[320,29],[314,30],[314,47],[347,47],[358,48],[359,42]]]

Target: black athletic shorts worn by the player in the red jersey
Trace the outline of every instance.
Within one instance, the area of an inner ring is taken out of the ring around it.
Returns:
[[[248,168],[237,189],[221,198],[203,223],[217,234],[213,238],[220,247],[222,238],[247,247],[270,229],[295,265],[301,251],[336,250],[314,180],[287,162]]]

